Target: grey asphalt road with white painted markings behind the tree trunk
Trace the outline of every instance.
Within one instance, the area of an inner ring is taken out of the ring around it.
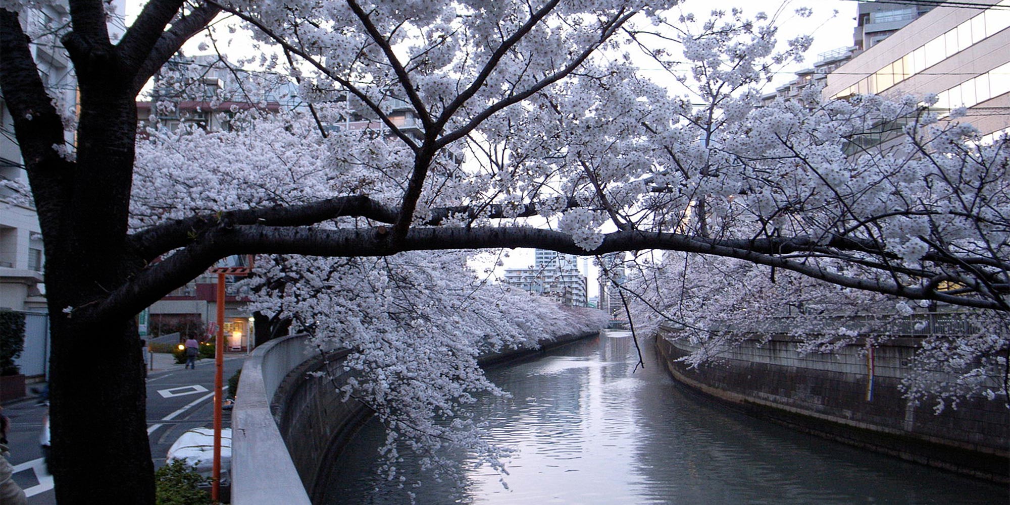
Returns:
[[[225,385],[241,368],[244,358],[244,355],[225,357]],[[214,362],[201,360],[196,370],[186,370],[176,365],[171,355],[155,355],[154,368],[147,375],[147,435],[155,468],[160,468],[179,435],[187,429],[213,426]],[[3,413],[11,421],[7,439],[14,481],[25,491],[29,505],[56,504],[53,477],[42,465],[38,445],[45,407],[29,399],[5,404]],[[223,414],[223,426],[229,427],[231,413]]]

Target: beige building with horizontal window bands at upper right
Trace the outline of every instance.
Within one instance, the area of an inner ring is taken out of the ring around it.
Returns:
[[[967,107],[982,135],[1010,128],[1010,0],[936,7],[828,75],[825,98],[936,94],[941,113]],[[877,138],[874,141],[886,141]]]

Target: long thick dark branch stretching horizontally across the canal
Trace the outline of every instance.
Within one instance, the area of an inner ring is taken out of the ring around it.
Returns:
[[[918,300],[936,300],[956,305],[1005,310],[1001,300],[953,296],[938,292],[934,284],[916,288],[884,280],[862,279],[827,271],[803,259],[779,255],[812,247],[852,246],[850,239],[823,244],[813,238],[764,238],[759,240],[711,239],[678,233],[617,231],[605,235],[603,243],[586,250],[560,231],[529,227],[411,228],[400,240],[392,240],[385,227],[320,229],[292,226],[239,225],[221,222],[207,229],[192,243],[137,274],[132,280],[102,300],[95,300],[84,314],[75,317],[101,318],[133,314],[154,303],[162,294],[200,275],[220,258],[230,255],[273,254],[322,257],[385,257],[405,250],[479,249],[498,247],[539,247],[577,256],[602,256],[625,250],[662,249],[735,258],[769,267],[790,270],[807,277],[846,288]],[[860,245],[861,249],[865,244]],[[976,284],[958,279],[961,284]]]

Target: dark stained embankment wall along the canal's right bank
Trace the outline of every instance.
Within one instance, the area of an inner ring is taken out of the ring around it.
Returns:
[[[712,364],[688,368],[696,347],[661,330],[655,344],[679,382],[753,415],[904,460],[996,482],[1010,482],[1010,412],[1005,399],[977,398],[934,414],[910,405],[898,385],[915,340],[898,338],[874,350],[849,346],[831,355],[796,350],[780,335],[745,341]]]

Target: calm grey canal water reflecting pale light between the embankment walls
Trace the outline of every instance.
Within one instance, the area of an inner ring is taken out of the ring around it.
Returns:
[[[489,372],[510,392],[481,413],[518,451],[507,476],[474,467],[438,482],[406,462],[406,486],[377,473],[375,420],[334,464],[324,502],[404,504],[1004,504],[1003,486],[798,433],[716,404],[670,379],[630,334],[552,349]],[[405,453],[402,450],[401,453]],[[505,485],[502,484],[504,479]],[[420,482],[420,486],[410,483]]]

